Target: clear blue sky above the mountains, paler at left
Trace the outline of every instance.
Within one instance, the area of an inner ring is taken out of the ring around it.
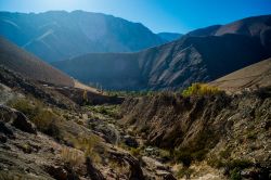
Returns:
[[[0,11],[85,10],[140,22],[154,33],[195,28],[271,14],[271,0],[0,0]]]

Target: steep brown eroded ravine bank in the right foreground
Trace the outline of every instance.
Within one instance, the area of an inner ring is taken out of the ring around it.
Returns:
[[[128,99],[121,105],[122,124],[132,126],[146,144],[171,152],[195,179],[208,172],[206,163],[220,169],[212,170],[217,179],[269,179],[270,92],[269,88],[232,97],[160,93]]]

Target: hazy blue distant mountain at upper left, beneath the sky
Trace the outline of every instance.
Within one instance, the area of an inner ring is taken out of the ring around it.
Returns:
[[[140,23],[83,11],[0,12],[0,35],[47,62],[89,52],[131,52],[165,42]]]

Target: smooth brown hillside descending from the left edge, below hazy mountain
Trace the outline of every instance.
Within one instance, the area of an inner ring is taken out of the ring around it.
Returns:
[[[74,86],[74,79],[35,55],[0,37],[0,65],[31,79],[54,85]]]

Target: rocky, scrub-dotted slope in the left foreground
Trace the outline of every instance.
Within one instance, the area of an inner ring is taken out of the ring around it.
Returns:
[[[0,179],[172,178],[156,159],[131,155],[138,143],[117,126],[121,102],[0,66]]]

